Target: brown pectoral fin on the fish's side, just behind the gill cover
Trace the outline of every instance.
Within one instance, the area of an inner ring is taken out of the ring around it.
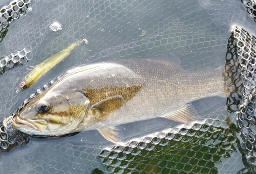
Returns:
[[[98,121],[104,120],[109,116],[109,114],[121,108],[123,101],[122,96],[112,96],[94,104],[91,107],[91,111],[94,115],[97,115]]]

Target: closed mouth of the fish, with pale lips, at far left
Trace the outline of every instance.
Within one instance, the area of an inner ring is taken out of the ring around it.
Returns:
[[[15,117],[12,126],[16,129],[32,129],[40,133],[44,132],[48,127],[48,122],[44,119],[25,119],[20,117]],[[24,132],[24,131],[22,131]]]

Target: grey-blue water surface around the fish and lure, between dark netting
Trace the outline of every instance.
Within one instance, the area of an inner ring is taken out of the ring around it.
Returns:
[[[23,49],[31,51],[28,62],[0,75],[1,119],[12,114],[36,89],[78,64],[121,58],[167,56],[170,61],[178,58],[182,67],[187,70],[213,69],[226,61],[230,29],[234,24],[246,28],[251,33],[255,33],[256,30],[255,22],[247,13],[245,6],[234,0],[76,0],[65,3],[31,1],[29,8],[33,10],[10,23],[6,35],[0,42],[3,57]],[[49,26],[56,21],[61,24],[62,30],[52,32]],[[75,53],[31,88],[16,93],[19,82],[30,71],[31,66],[36,66],[82,38],[87,38],[89,44],[80,46]],[[223,107],[225,101],[208,98],[203,103],[204,105],[200,102],[195,103],[195,107],[202,115],[217,112],[218,116],[218,113],[224,112],[223,115],[231,117],[231,120],[236,117],[236,114],[227,112],[227,108]],[[215,118],[213,115],[208,116]],[[178,125],[176,122],[158,118],[124,125],[123,130],[124,136],[131,139]],[[217,127],[213,132],[218,130]],[[97,131],[82,132],[59,139],[31,139],[28,145],[1,154],[0,172],[109,171],[107,165],[103,165],[98,157],[101,150],[108,145],[112,143],[106,141]],[[236,141],[232,151],[209,161],[215,161],[215,171],[236,173],[244,167],[242,157]]]

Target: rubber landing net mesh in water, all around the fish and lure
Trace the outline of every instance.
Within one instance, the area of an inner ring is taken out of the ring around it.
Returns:
[[[0,10],[0,173],[255,172],[254,1],[8,3]],[[33,66],[82,38],[89,43],[18,90]],[[35,139],[12,128],[13,117],[67,69],[154,57],[178,58],[191,71],[225,64],[230,97],[193,102],[201,118],[186,125],[162,118],[123,125],[127,141],[116,145],[97,131]]]

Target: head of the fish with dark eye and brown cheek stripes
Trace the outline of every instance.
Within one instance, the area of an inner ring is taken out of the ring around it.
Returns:
[[[14,118],[13,127],[34,136],[61,136],[77,128],[90,101],[77,89],[45,91]]]

